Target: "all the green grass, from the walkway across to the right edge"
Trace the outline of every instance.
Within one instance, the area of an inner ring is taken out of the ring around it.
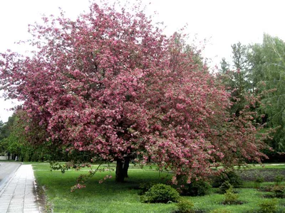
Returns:
[[[33,169],[38,185],[45,188],[48,197],[47,207],[51,207],[53,212],[175,212],[177,210],[175,203],[142,203],[140,195],[138,195],[140,183],[166,183],[171,179],[170,173],[158,173],[156,170],[146,167],[145,169],[131,167],[130,178],[127,179],[127,182],[117,183],[112,178],[100,184],[99,180],[103,179],[105,175],[115,176],[115,171],[105,171],[96,173],[86,188],[71,192],[71,187],[76,185],[76,178],[88,171],[68,170],[62,174],[60,171],[51,171],[49,164],[44,163],[33,163]],[[279,170],[281,168],[276,168],[277,173]],[[263,182],[261,187],[272,184],[274,182]],[[214,209],[227,209],[230,212],[257,212],[259,204],[267,199],[264,198],[264,195],[270,192],[261,192],[253,187],[254,182],[247,181],[244,182],[242,188],[235,189],[239,193],[239,200],[244,204],[222,204],[224,195],[215,193],[216,189],[212,189],[210,195],[185,197],[185,199],[191,200],[195,204],[196,210],[204,212],[211,212]],[[279,212],[285,212],[285,199],[278,199],[278,202]]]

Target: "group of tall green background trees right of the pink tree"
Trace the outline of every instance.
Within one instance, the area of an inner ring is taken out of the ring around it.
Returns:
[[[264,151],[271,161],[284,160],[285,151],[285,43],[264,34],[262,43],[232,45],[232,61],[222,59],[219,76],[232,92],[232,113],[257,97],[257,110],[265,129],[273,129],[267,141],[274,151]]]

